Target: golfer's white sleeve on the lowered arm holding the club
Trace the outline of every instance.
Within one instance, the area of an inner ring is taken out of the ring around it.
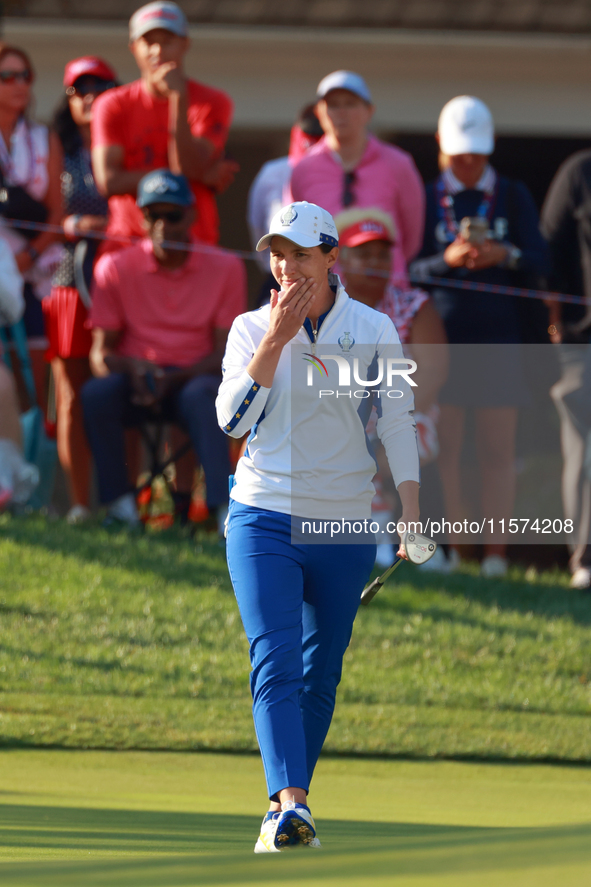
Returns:
[[[402,358],[404,353],[396,328],[389,318],[378,343],[378,356]],[[402,365],[401,365],[402,366]],[[420,481],[419,451],[415,428],[414,395],[404,376],[395,376],[395,388],[383,391],[376,402],[377,432],[384,445],[394,483],[398,487],[405,480]],[[402,397],[389,397],[390,391],[401,391]]]

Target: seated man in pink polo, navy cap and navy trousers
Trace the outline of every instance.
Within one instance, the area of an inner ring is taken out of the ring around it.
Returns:
[[[215,398],[228,331],[246,310],[246,274],[236,256],[199,249],[192,240],[193,204],[184,176],[148,173],[137,201],[148,239],[107,253],[95,268],[90,363],[96,378],[83,387],[82,405],[109,521],[138,523],[124,429],[155,414],[188,432],[210,511],[221,517],[227,507],[228,445]],[[178,243],[189,249],[171,245]]]

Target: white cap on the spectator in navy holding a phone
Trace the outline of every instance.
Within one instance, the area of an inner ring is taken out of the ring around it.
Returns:
[[[492,154],[495,125],[492,114],[480,99],[459,95],[439,115],[439,147],[443,154]]]

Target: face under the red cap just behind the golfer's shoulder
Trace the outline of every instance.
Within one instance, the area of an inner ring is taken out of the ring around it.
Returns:
[[[343,247],[341,265],[351,298],[374,308],[384,295],[392,269],[392,244],[370,240]]]

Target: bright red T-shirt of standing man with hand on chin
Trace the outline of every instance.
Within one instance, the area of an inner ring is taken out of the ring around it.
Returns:
[[[233,104],[226,93],[194,80],[187,81],[188,121],[192,134],[223,151],[232,120]],[[110,89],[93,108],[92,146],[121,145],[123,168],[142,170],[168,167],[168,99],[150,95],[141,80]],[[215,195],[201,182],[191,181],[197,219],[193,235],[205,243],[217,243],[219,220]],[[117,194],[109,199],[108,234],[144,235],[142,214],[135,195]]]

